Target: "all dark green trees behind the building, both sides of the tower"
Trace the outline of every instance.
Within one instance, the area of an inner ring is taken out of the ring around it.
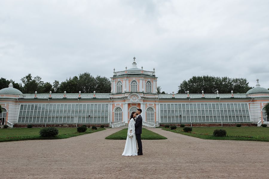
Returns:
[[[22,93],[110,93],[111,81],[104,76],[92,76],[90,73],[85,72],[78,76],[67,78],[65,81],[59,82],[55,80],[53,84],[44,82],[41,77],[33,77],[31,74],[26,75],[21,79],[21,83],[16,83],[12,80],[0,79],[0,89],[6,88],[10,82],[13,83],[14,88],[20,90]],[[246,93],[253,87],[249,86],[246,78],[229,78],[215,77],[215,76],[193,76],[189,80],[184,80],[178,86],[178,93]],[[157,87],[158,94],[167,94],[161,92],[161,86]]]

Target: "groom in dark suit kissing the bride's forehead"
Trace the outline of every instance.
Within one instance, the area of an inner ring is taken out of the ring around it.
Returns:
[[[135,120],[135,135],[138,145],[137,155],[143,155],[142,152],[142,142],[141,142],[141,134],[142,134],[142,116],[140,115],[142,112],[141,109],[136,110],[136,120]]]

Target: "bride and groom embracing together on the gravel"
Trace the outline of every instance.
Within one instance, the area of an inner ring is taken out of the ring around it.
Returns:
[[[141,142],[141,134],[142,134],[142,116],[140,115],[141,112],[142,112],[141,109],[137,109],[136,112],[132,112],[131,114],[127,131],[127,139],[122,155],[125,156],[143,155],[142,142]],[[138,145],[138,152],[136,148],[136,141]]]

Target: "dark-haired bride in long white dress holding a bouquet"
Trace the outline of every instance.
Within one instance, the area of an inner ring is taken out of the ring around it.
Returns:
[[[130,122],[128,126],[128,131],[127,131],[127,138],[126,138],[126,143],[125,143],[125,148],[122,153],[122,155],[125,156],[135,156],[137,155],[137,148],[136,148],[136,137],[135,137],[135,120],[134,118],[136,117],[136,112],[132,112],[131,117],[130,117]],[[130,138],[130,136],[132,136]]]

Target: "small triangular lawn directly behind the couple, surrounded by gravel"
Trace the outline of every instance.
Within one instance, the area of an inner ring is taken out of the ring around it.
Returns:
[[[106,139],[126,140],[127,130],[128,129],[122,129],[119,132],[116,132],[114,134],[107,136]],[[142,140],[159,140],[159,139],[167,139],[167,138],[163,137],[162,135],[156,134],[155,132],[152,132],[148,129],[142,128],[141,139]]]

